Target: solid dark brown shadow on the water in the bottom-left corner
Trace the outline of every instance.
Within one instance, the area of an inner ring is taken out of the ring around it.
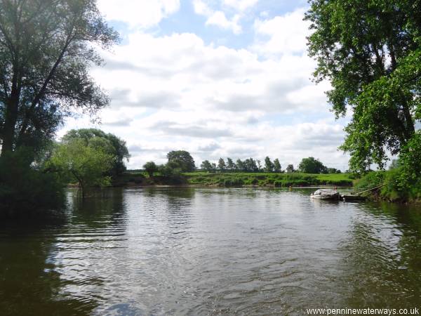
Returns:
[[[44,218],[46,220],[47,218]],[[86,315],[95,303],[57,299],[62,282],[48,256],[65,220],[0,227],[0,315]]]

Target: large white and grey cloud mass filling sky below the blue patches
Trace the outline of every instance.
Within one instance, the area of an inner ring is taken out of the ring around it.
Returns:
[[[107,65],[92,71],[112,98],[112,106],[101,112],[103,124],[69,119],[60,135],[85,126],[115,133],[131,149],[130,168],[150,160],[163,163],[168,151],[183,149],[198,166],[204,159],[269,155],[284,167],[314,156],[342,169],[347,157],[336,148],[343,123],[328,112],[323,91],[329,86],[309,80],[314,61],[302,46],[272,43],[275,37],[283,38],[283,45],[293,43],[297,34],[305,41],[305,23],[295,32],[269,32],[271,23],[285,26],[300,20],[298,15],[302,11],[257,22],[267,38],[243,49],[206,44],[191,33],[129,34],[114,53],[104,54]]]

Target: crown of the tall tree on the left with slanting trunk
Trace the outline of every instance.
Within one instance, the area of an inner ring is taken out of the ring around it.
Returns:
[[[88,67],[102,64],[95,46],[116,41],[95,0],[0,1],[1,157],[36,152],[74,109],[109,103]]]

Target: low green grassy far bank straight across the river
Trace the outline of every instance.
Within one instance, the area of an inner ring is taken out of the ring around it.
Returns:
[[[194,185],[205,187],[309,187],[319,185],[349,187],[353,177],[348,173],[182,173],[178,177],[142,172],[126,172],[114,179],[113,186]]]

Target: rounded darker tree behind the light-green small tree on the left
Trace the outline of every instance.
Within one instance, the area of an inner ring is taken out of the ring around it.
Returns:
[[[126,141],[121,140],[112,133],[105,133],[100,129],[72,129],[62,137],[62,141],[68,142],[72,139],[83,139],[86,144],[91,146],[102,147],[107,154],[112,155],[114,162],[110,175],[118,176],[126,171],[124,161],[130,158]]]

